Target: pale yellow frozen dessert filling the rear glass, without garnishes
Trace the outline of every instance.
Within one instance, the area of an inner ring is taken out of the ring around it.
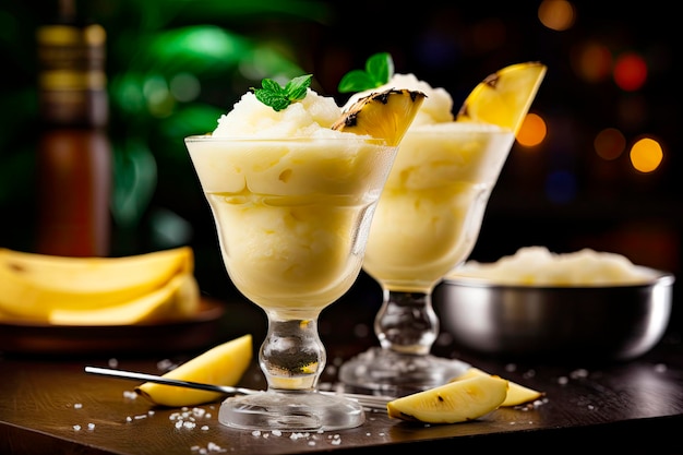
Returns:
[[[391,86],[420,89],[427,99],[400,143],[363,268],[393,290],[423,291],[474,248],[514,134],[456,122],[451,95],[414,74],[395,74],[376,91]]]

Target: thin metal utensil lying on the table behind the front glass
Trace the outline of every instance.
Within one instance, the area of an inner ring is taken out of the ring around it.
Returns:
[[[215,385],[215,384],[205,384],[201,382],[193,381],[181,381],[175,380],[170,378],[158,376],[155,374],[146,374],[146,373],[137,373],[134,371],[124,371],[124,370],[113,370],[109,368],[99,368],[99,367],[85,367],[86,373],[99,374],[110,378],[119,378],[127,379],[133,381],[147,381],[154,382],[157,384],[164,385],[175,385],[179,387],[187,388],[196,388],[206,392],[218,392],[226,395],[252,395],[260,393],[262,391],[256,391],[253,388],[247,387],[233,387],[230,385]],[[386,410],[386,404],[395,397],[392,396],[383,396],[383,395],[366,395],[366,394],[351,394],[346,392],[329,392],[329,391],[320,391],[321,394],[324,395],[344,395],[347,398],[357,400],[361,406],[371,409],[371,410]]]

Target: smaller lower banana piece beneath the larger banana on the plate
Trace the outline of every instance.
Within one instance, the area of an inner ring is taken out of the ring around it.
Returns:
[[[179,319],[196,312],[200,289],[190,273],[176,275],[163,287],[121,304],[100,309],[53,309],[50,324],[58,325],[129,325],[163,319]]]

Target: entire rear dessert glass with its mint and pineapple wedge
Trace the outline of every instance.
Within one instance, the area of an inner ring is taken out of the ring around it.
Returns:
[[[348,104],[394,86],[427,96],[400,143],[368,237],[363,270],[383,291],[373,325],[380,347],[340,367],[345,384],[398,395],[443,384],[467,367],[430,355],[440,334],[431,292],[477,242],[544,72],[536,62],[506,67],[480,82],[456,115],[444,88],[394,74],[387,53],[343,77],[340,92],[359,91]]]

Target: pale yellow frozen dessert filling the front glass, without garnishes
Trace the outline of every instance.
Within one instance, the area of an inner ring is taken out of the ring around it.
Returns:
[[[342,118],[311,88],[278,111],[250,92],[213,134],[187,142],[230,278],[263,308],[317,313],[358,276],[352,234],[370,223],[396,149],[333,129]]]

